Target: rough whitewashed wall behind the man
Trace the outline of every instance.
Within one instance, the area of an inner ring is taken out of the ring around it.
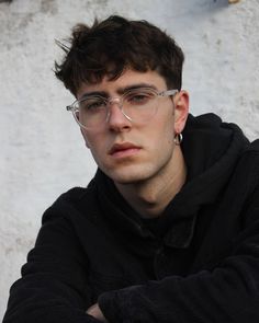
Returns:
[[[185,51],[193,114],[218,113],[259,137],[259,1],[13,0],[0,3],[0,318],[33,246],[41,217],[95,166],[64,106],[72,96],[52,71],[54,39],[77,22],[119,13],[146,19]]]

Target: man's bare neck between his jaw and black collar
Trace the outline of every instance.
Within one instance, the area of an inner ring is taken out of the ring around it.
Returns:
[[[179,146],[173,158],[159,175],[133,184],[115,183],[127,203],[144,218],[159,217],[170,200],[181,189],[187,178],[187,168]]]

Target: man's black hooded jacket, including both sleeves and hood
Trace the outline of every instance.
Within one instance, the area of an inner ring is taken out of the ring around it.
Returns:
[[[3,323],[259,322],[259,141],[189,116],[188,181],[143,219],[98,170],[43,216]]]

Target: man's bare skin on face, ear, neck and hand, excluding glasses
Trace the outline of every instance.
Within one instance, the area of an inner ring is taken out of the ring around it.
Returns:
[[[158,92],[168,90],[165,79],[156,71],[126,70],[114,81],[104,78],[98,84],[83,83],[77,99],[91,92],[105,92],[109,97],[119,97],[126,86],[143,83],[155,86]],[[180,91],[173,97],[160,97],[158,104],[156,115],[139,123],[128,120],[114,102],[110,105],[106,122],[100,127],[91,130],[81,128],[98,166],[114,181],[119,192],[143,217],[161,215],[181,189],[187,175],[181,148],[173,139],[184,128],[189,95]],[[87,313],[108,322],[98,304],[89,308]]]

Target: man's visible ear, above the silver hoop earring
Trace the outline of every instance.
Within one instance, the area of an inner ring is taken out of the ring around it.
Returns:
[[[173,97],[174,103],[174,134],[181,134],[184,129],[189,114],[189,94],[182,90]]]

